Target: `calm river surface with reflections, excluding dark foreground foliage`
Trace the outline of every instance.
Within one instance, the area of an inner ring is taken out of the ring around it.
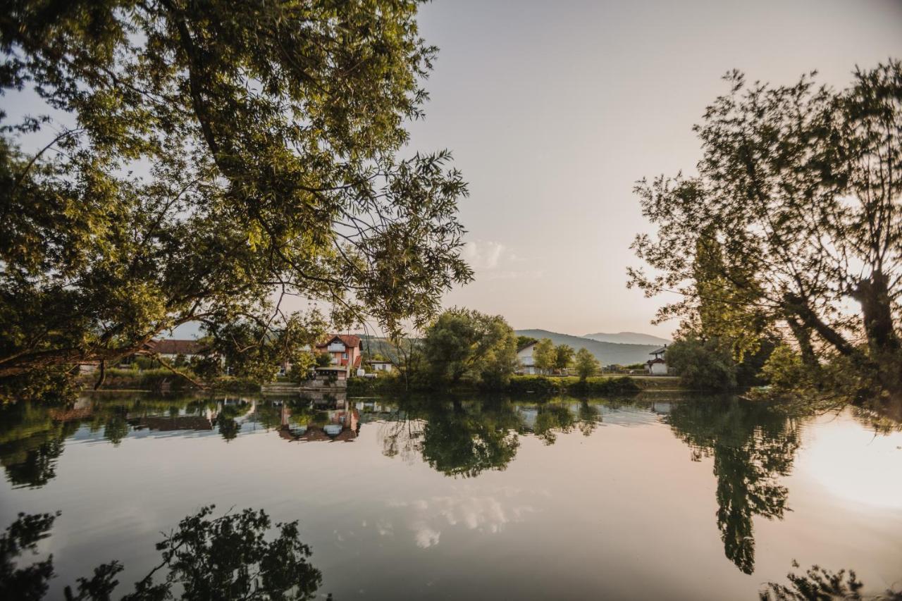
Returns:
[[[902,584],[902,432],[851,410],[94,396],[4,408],[0,461],[0,522],[61,511],[53,598],[142,577],[206,504],[299,520],[335,599],[754,599],[793,559]]]

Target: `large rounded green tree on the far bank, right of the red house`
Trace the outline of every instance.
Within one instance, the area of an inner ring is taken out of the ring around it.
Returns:
[[[517,337],[500,315],[446,310],[426,329],[423,351],[434,383],[507,384],[517,365]]]

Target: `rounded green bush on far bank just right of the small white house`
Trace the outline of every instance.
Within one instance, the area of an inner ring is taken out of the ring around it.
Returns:
[[[690,390],[729,390],[736,386],[736,362],[718,338],[687,337],[667,347],[667,366]]]

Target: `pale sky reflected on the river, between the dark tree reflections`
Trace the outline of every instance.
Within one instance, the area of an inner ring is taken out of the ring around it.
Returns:
[[[299,520],[321,592],[335,598],[361,588],[373,598],[559,598],[562,586],[575,598],[755,598],[792,559],[854,568],[877,587],[902,576],[902,509],[854,498],[897,498],[898,434],[874,437],[848,414],[806,422],[781,479],[792,511],[755,518],[746,576],[724,556],[713,459],[690,460],[651,403],[594,406],[603,421],[590,436],[573,430],[550,446],[520,436],[504,470],[473,478],[443,476],[419,451],[386,457],[387,421],[364,424],[348,445],[288,444],[253,418],[227,444],[216,429],[141,430],[114,447],[102,427],[83,426],[47,485],[0,485],[0,522],[62,510],[41,547],[60,572],[51,598],[110,559],[126,566],[121,582],[141,578],[159,559],[160,532],[211,503]]]

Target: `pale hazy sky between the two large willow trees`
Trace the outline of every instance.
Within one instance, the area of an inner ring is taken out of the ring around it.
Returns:
[[[571,334],[650,326],[665,297],[627,290],[635,180],[695,171],[691,127],[741,69],[793,83],[902,57],[902,2],[436,0],[420,31],[441,50],[411,147],[450,148],[476,281],[446,305]]]

